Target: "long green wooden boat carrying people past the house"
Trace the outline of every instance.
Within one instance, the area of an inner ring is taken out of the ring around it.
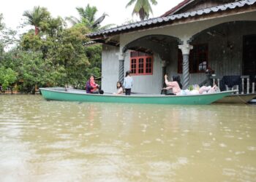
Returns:
[[[205,105],[213,103],[236,90],[201,95],[113,95],[87,94],[85,90],[65,89],[61,87],[40,88],[42,97],[46,100],[64,100],[79,102],[103,103],[157,103]]]

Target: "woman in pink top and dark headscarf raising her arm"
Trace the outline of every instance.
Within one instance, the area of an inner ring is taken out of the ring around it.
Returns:
[[[167,79],[167,74],[165,74],[165,84],[167,87],[163,88],[163,90],[173,90],[173,95],[180,95],[181,93],[181,88],[182,88],[182,84],[181,84],[181,78],[180,76],[173,76],[172,78],[172,82],[169,82]]]

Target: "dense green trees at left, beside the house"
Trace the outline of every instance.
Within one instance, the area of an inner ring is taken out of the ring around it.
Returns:
[[[101,45],[85,47],[83,23],[67,28],[61,17],[51,17],[43,7],[34,7],[23,14],[34,30],[23,33],[15,47],[15,31],[6,31],[0,15],[0,85],[3,90],[18,85],[20,92],[35,92],[36,87],[84,88],[90,74],[101,75]],[[6,44],[2,44],[6,42]]]

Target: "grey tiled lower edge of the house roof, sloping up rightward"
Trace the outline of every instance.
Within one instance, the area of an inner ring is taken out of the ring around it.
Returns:
[[[206,9],[199,9],[199,10],[192,11],[192,12],[184,12],[181,14],[170,15],[167,17],[151,18],[151,19],[143,20],[143,21],[140,21],[137,23],[130,23],[127,25],[118,26],[116,28],[110,28],[110,29],[103,30],[103,31],[89,33],[86,36],[88,36],[91,39],[97,39],[102,36],[114,35],[114,34],[128,32],[128,31],[136,31],[136,30],[140,30],[143,28],[159,27],[161,25],[173,23],[175,20],[186,19],[189,17],[197,17],[197,16],[201,16],[201,15],[208,15],[208,14],[211,14],[214,12],[225,12],[228,9],[238,9],[241,7],[251,6],[253,4],[256,4],[256,0],[236,1],[233,3],[222,4],[217,7],[209,7]]]

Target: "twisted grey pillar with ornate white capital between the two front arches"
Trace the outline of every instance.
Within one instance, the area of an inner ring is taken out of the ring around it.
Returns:
[[[183,64],[182,64],[182,88],[187,89],[189,87],[189,51],[193,49],[190,44],[178,45],[178,49],[181,49]]]

